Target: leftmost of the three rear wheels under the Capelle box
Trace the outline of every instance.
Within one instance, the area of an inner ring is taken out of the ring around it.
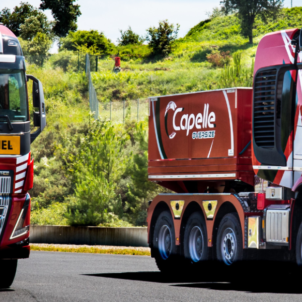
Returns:
[[[161,272],[175,269],[176,246],[174,223],[170,212],[162,212],[155,224],[153,237],[153,254]]]

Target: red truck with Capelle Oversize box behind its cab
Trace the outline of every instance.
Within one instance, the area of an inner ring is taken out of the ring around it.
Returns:
[[[302,265],[302,30],[265,35],[253,88],[149,98],[148,243],[162,271]],[[180,261],[184,260],[184,262]]]

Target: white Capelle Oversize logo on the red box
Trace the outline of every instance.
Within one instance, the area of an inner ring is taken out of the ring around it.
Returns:
[[[214,124],[216,117],[215,113],[212,111],[209,113],[209,104],[204,104],[203,109],[203,115],[201,113],[197,113],[195,116],[194,113],[189,114],[183,114],[180,119],[180,124],[176,125],[176,116],[178,113],[184,111],[185,108],[177,108],[177,105],[174,102],[170,102],[166,107],[165,112],[165,128],[166,133],[169,136],[169,138],[173,138],[176,135],[175,131],[185,130],[186,135],[189,135],[190,130],[192,130],[194,127],[196,129],[205,129],[205,128],[214,128],[216,127],[216,124]],[[168,113],[169,110],[172,109],[174,111],[173,115],[173,131],[171,134],[168,132]],[[198,131],[192,133],[192,138],[208,138],[208,137],[214,137],[215,131]]]

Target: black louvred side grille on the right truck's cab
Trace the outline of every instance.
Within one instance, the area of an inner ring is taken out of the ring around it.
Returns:
[[[274,114],[277,70],[260,71],[254,86],[254,139],[259,147],[275,145]]]

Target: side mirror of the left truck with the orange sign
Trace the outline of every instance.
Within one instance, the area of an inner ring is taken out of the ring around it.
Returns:
[[[29,79],[33,81],[33,107],[39,108],[39,111],[34,111],[34,126],[39,129],[30,134],[30,141],[33,142],[46,126],[46,112],[42,83],[33,75],[27,74],[26,80]]]

